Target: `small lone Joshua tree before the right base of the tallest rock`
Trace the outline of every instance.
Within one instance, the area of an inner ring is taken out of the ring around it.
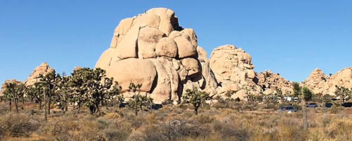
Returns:
[[[198,109],[201,104],[203,104],[207,99],[210,99],[209,93],[199,91],[195,87],[193,90],[186,90],[186,93],[182,97],[183,101],[190,103],[194,107],[194,114],[198,115]]]

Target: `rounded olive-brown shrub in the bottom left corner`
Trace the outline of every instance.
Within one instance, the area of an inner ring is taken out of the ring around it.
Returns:
[[[39,127],[39,121],[25,114],[6,114],[0,118],[2,133],[12,137],[28,137]]]

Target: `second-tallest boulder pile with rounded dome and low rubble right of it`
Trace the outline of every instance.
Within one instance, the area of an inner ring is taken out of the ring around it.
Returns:
[[[247,94],[274,94],[278,90],[289,94],[293,88],[292,83],[278,73],[256,73],[250,54],[233,45],[214,49],[210,67],[219,83],[217,90],[221,97],[229,92],[233,99],[245,99]]]

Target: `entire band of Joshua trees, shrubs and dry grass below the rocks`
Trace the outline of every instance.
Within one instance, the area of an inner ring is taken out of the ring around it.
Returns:
[[[306,108],[306,102],[324,104],[332,97],[313,94],[298,83],[293,83],[291,95],[280,90],[248,93],[247,101],[186,90],[180,104],[165,102],[153,110],[147,108],[153,99],[139,92],[141,84],[130,84],[134,96],[126,100],[118,82],[100,68],[40,77],[30,87],[6,84],[0,102],[1,140],[352,140],[352,110],[340,102],[332,108]],[[350,89],[336,87],[342,101],[350,94]],[[283,97],[288,96],[300,99],[287,102]],[[125,100],[129,106],[120,107]],[[288,104],[298,112],[278,112]]]

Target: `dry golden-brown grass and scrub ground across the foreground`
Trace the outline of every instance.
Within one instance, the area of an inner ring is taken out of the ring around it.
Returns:
[[[56,112],[47,122],[42,111],[4,110],[0,140],[352,140],[351,109],[308,109],[310,127],[303,130],[302,113],[278,113],[279,105],[205,106],[198,116],[189,106],[168,105],[139,116],[110,107],[101,117]]]

